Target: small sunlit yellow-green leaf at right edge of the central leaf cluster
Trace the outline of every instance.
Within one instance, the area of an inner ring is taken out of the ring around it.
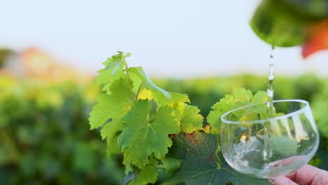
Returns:
[[[203,116],[199,114],[200,110],[191,105],[184,107],[184,112],[180,121],[180,132],[195,132],[203,127]]]

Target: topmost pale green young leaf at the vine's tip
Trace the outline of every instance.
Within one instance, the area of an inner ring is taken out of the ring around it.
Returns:
[[[125,58],[130,57],[130,53],[124,55],[123,52],[118,52],[117,55],[109,57],[104,64],[104,69],[98,71],[98,76],[96,78],[97,85],[103,85],[102,90],[108,91],[109,85],[119,79],[123,78],[125,74],[123,73],[123,68],[126,64]]]

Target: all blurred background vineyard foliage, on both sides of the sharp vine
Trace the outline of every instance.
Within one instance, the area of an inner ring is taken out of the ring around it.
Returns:
[[[233,88],[266,90],[267,77],[157,79],[160,88],[186,93],[206,118]],[[0,75],[0,184],[121,184],[122,158],[107,158],[88,117],[96,85],[49,84]],[[321,141],[311,164],[328,170],[328,81],[313,74],[277,77],[275,99],[308,100]],[[205,121],[206,123],[206,121]],[[160,179],[161,177],[159,177]]]

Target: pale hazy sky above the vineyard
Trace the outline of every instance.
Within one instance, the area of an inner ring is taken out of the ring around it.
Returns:
[[[117,50],[156,77],[268,74],[271,46],[250,28],[259,0],[3,1],[0,48],[33,46],[96,73]],[[275,74],[328,76],[328,51],[274,50]]]

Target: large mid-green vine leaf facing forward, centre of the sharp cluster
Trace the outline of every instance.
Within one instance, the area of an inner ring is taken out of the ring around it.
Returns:
[[[149,119],[151,102],[137,100],[123,118],[123,132],[118,137],[126,161],[142,169],[148,156],[154,153],[162,159],[168,153],[172,141],[168,135],[179,132],[179,125],[171,116],[170,107],[160,107],[156,116]]]

